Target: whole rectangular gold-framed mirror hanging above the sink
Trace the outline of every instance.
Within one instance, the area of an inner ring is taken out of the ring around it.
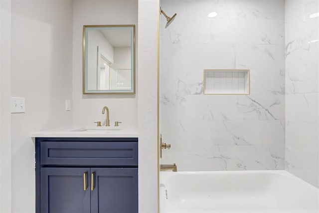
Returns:
[[[135,25],[83,27],[83,93],[135,93]]]

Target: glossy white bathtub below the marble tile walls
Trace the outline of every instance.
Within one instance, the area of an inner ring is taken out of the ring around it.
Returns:
[[[161,213],[319,213],[319,189],[286,171],[160,172]]]

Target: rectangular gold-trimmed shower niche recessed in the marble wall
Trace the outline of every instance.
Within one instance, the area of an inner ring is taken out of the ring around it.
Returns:
[[[204,95],[250,94],[249,69],[204,69]]]

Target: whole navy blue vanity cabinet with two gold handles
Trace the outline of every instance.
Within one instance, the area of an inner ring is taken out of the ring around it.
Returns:
[[[36,138],[36,213],[138,213],[137,138]]]

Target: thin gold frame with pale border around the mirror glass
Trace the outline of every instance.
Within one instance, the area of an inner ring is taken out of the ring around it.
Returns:
[[[87,30],[90,28],[97,28],[97,27],[133,27],[133,34],[131,34],[131,37],[133,39],[133,47],[131,46],[131,48],[133,48],[133,57],[131,56],[131,58],[133,58],[133,60],[131,61],[131,78],[133,78],[133,85],[131,85],[131,89],[130,90],[88,90],[87,89],[87,63],[86,63],[86,48],[87,45],[86,44],[86,38],[87,38]],[[135,94],[135,66],[136,66],[136,62],[135,62],[135,24],[120,24],[120,25],[83,25],[83,62],[82,62],[82,66],[83,66],[83,94]]]

